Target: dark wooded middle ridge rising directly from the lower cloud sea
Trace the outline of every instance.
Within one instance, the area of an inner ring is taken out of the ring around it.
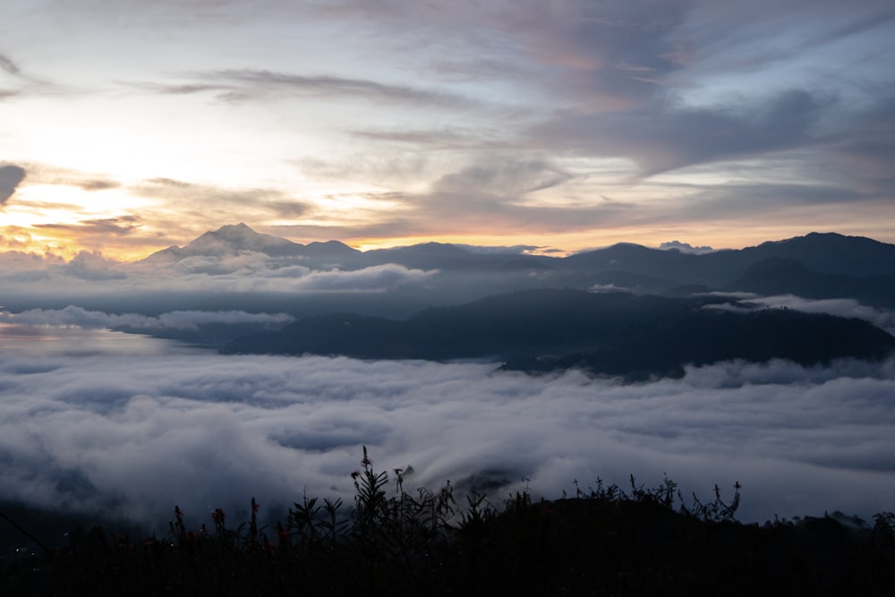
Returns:
[[[490,358],[505,369],[577,367],[627,380],[679,377],[687,364],[788,359],[804,365],[882,359],[895,338],[863,320],[720,304],[717,297],[530,290],[408,320],[331,313],[241,337],[228,354],[340,354],[368,359]]]

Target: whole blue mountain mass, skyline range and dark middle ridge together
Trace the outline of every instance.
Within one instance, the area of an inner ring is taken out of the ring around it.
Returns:
[[[880,359],[895,350],[895,338],[865,320],[747,302],[793,294],[895,309],[895,245],[863,237],[812,233],[714,252],[618,243],[549,257],[445,243],[360,252],[337,241],[293,243],[239,224],[145,261],[246,253],[260,254],[270,267],[349,272],[395,264],[430,274],[387,292],[279,297],[296,321],[231,336],[223,349],[230,354],[489,359],[505,369],[579,367],[643,380],[681,375],[687,364],[815,364]]]

